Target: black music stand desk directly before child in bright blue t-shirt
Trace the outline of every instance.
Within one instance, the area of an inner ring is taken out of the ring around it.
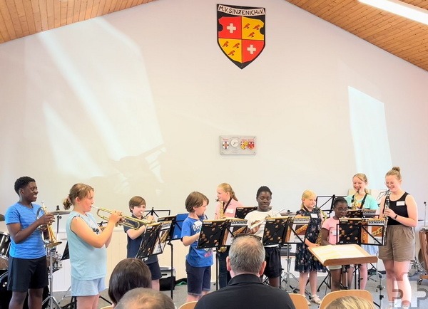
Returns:
[[[198,249],[225,246],[226,219],[203,220],[200,226]]]

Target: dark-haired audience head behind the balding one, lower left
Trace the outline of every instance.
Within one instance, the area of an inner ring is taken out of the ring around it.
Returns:
[[[133,288],[151,288],[151,272],[138,258],[125,258],[113,269],[108,283],[108,296],[113,307]]]

